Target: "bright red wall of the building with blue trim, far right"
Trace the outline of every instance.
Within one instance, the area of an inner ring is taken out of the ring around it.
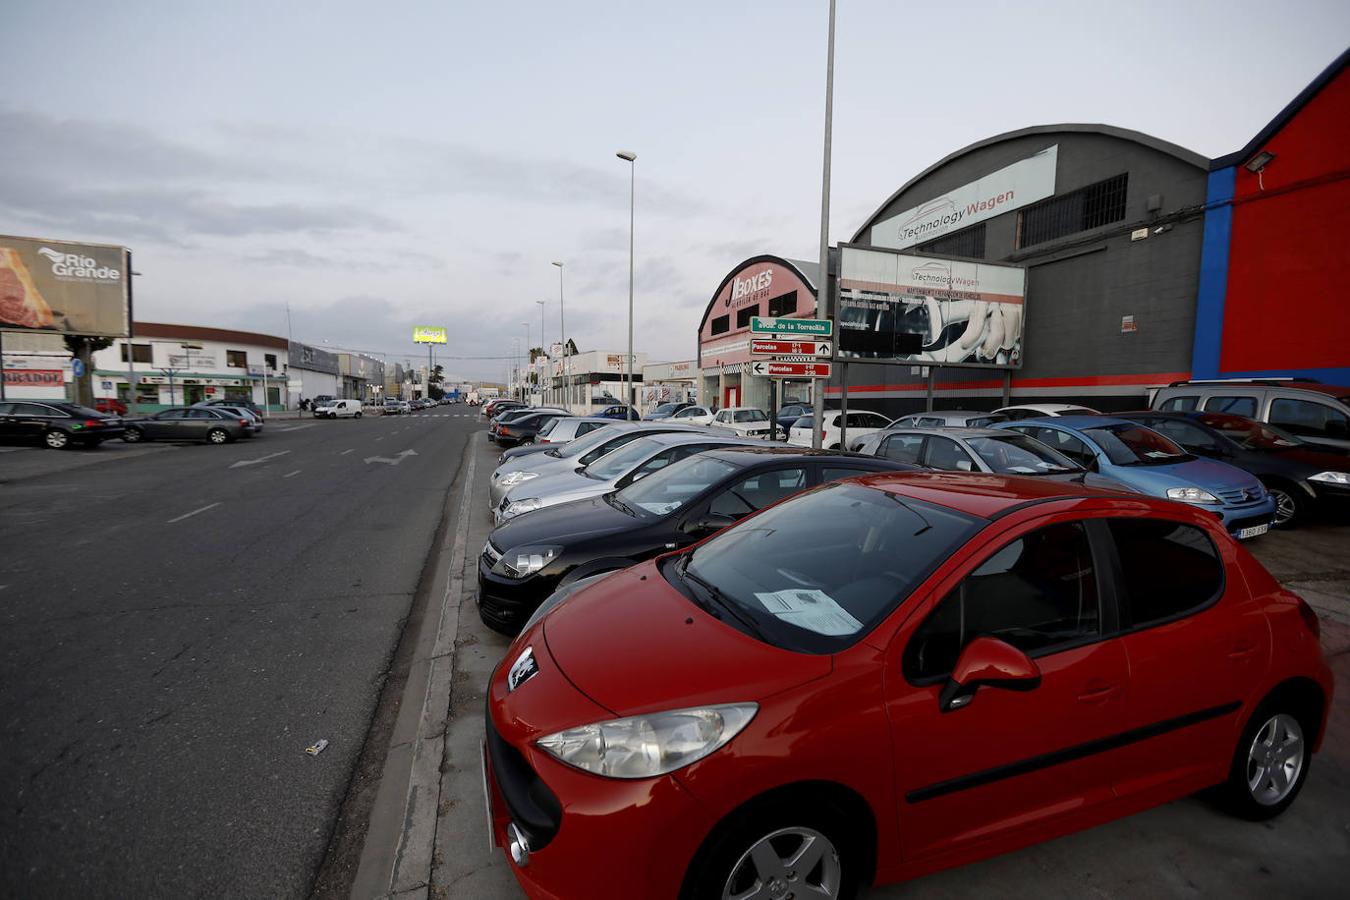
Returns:
[[[1220,368],[1350,366],[1350,69],[1264,150],[1237,173]]]

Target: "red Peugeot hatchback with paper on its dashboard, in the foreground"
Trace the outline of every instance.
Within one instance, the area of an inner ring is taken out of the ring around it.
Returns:
[[[555,594],[485,791],[532,897],[848,897],[1202,788],[1273,816],[1330,700],[1316,614],[1212,515],[876,475]]]

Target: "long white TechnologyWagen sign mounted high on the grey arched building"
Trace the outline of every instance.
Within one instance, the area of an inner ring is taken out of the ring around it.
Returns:
[[[1054,194],[1060,146],[872,225],[872,246],[905,250]]]

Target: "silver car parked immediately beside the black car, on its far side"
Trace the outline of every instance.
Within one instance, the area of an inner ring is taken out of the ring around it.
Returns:
[[[545,506],[608,494],[701,451],[745,444],[763,447],[760,441],[713,437],[706,432],[686,429],[641,434],[586,466],[564,466],[560,471],[549,471],[509,486],[506,495],[493,510],[493,519],[501,525]]]

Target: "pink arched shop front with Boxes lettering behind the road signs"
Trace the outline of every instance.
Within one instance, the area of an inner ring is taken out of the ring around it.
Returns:
[[[772,412],[772,379],[751,374],[751,320],[815,316],[817,263],[753,256],[717,286],[698,325],[698,399],[705,406]],[[809,402],[810,382],[780,382],[778,403]]]

